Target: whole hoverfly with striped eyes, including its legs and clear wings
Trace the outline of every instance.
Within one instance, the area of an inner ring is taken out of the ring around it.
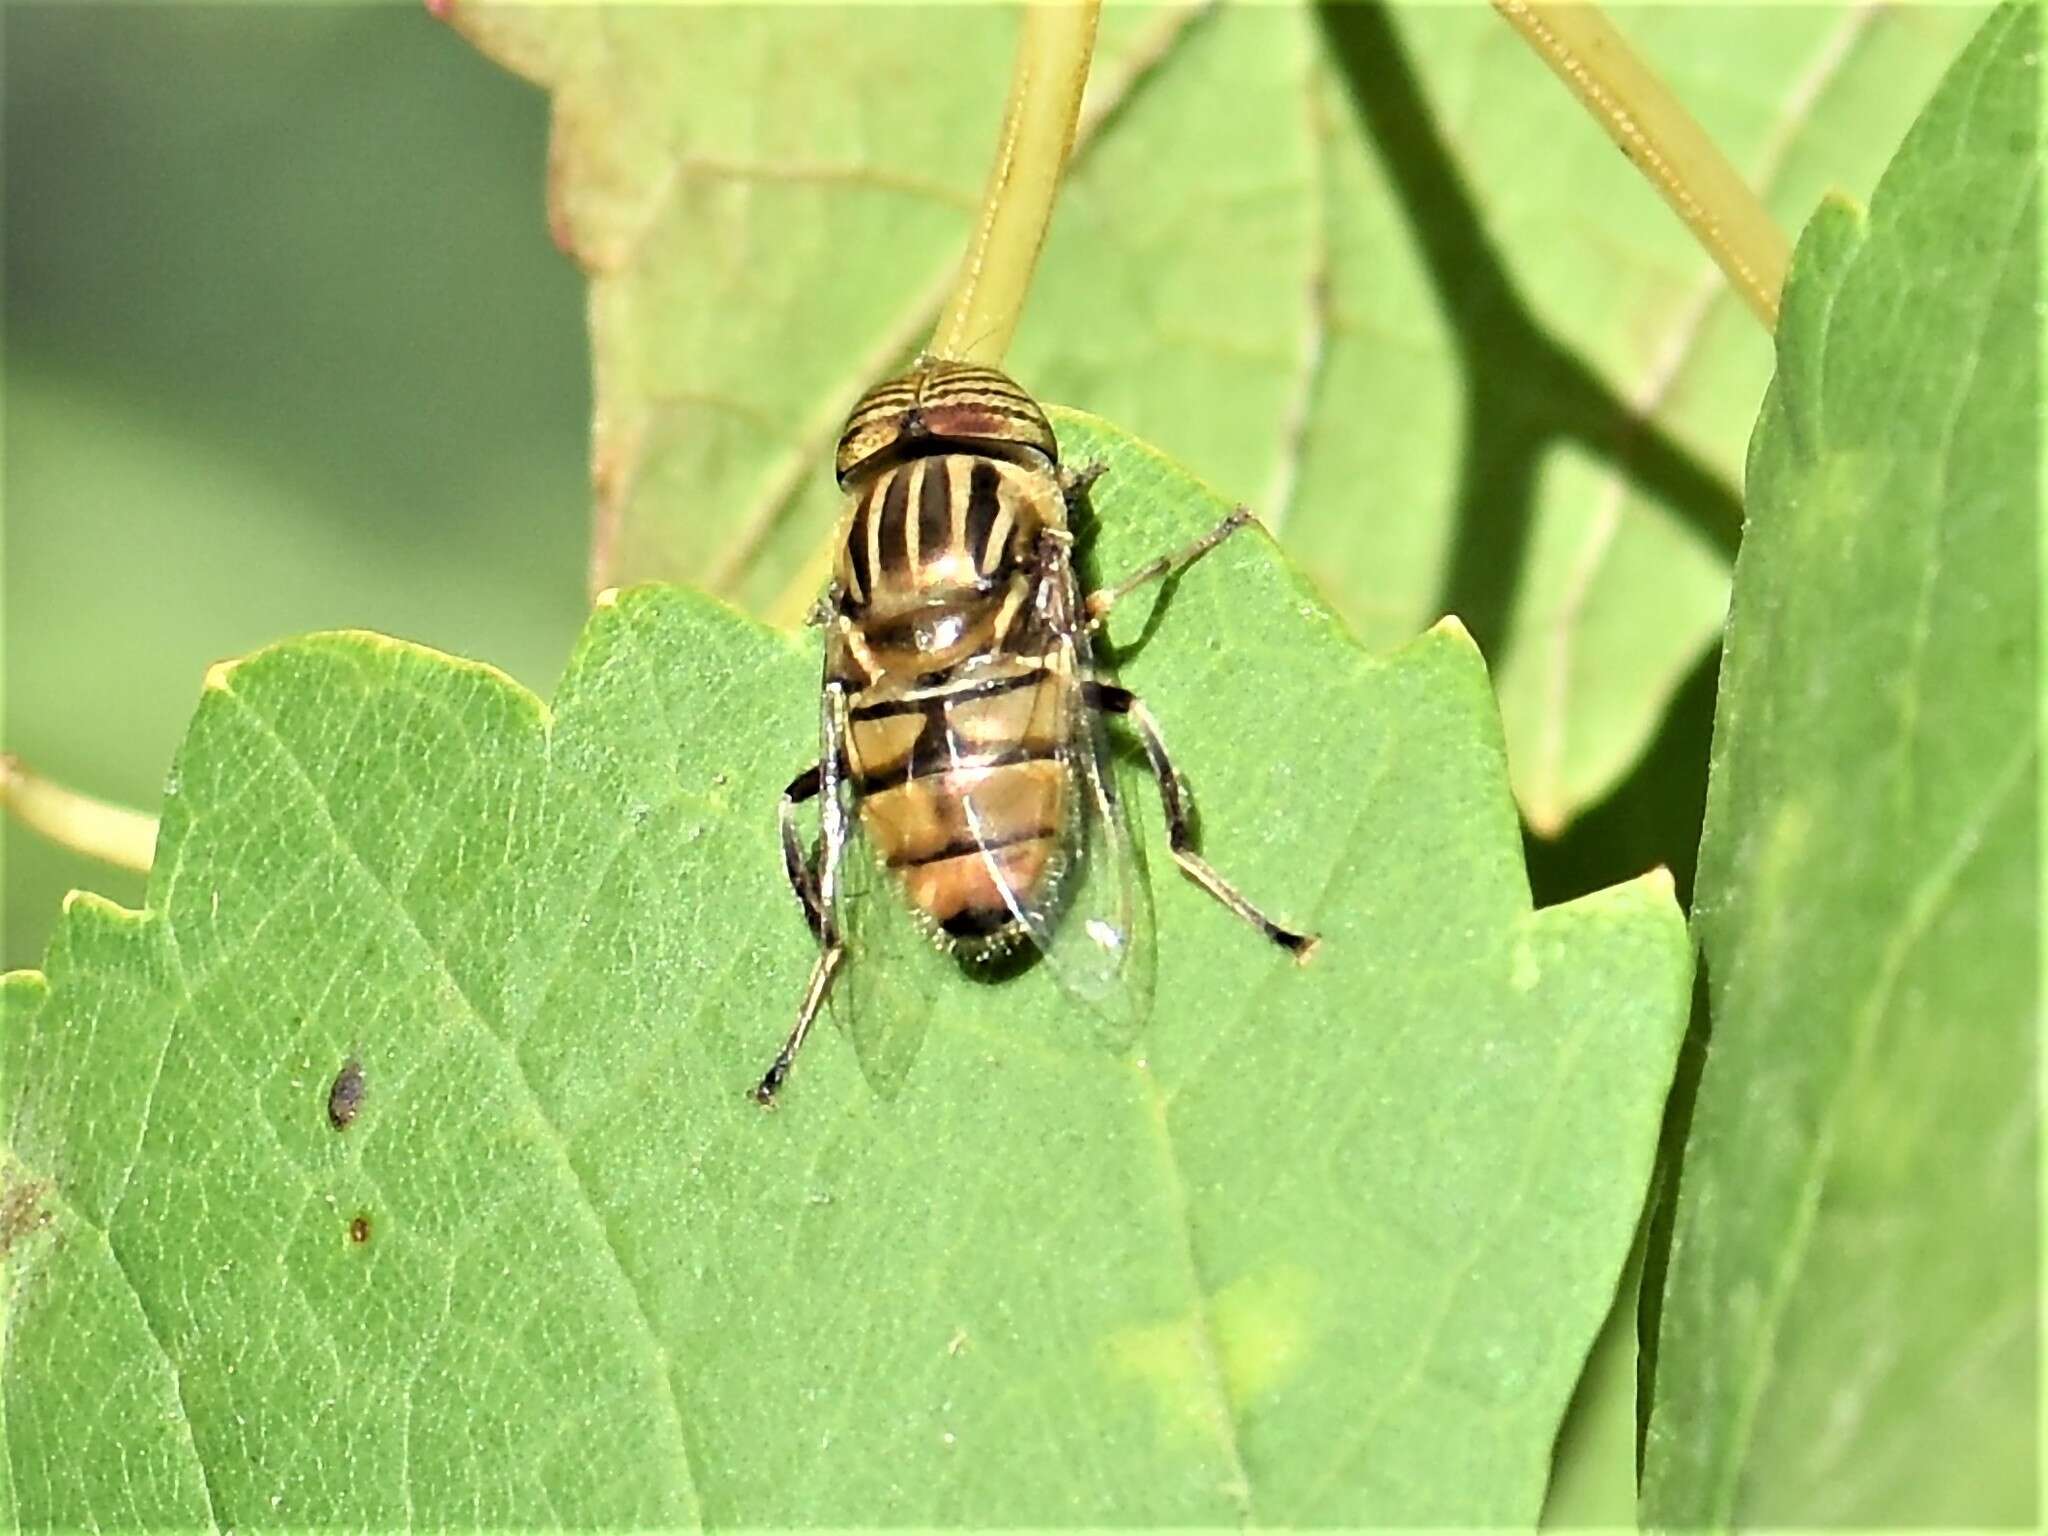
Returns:
[[[969,967],[1034,946],[1059,985],[1114,1008],[1149,963],[1104,717],[1145,748],[1182,872],[1305,961],[1315,938],[1241,897],[1192,846],[1182,780],[1151,713],[1094,664],[1110,608],[1251,522],[1239,508],[1186,549],[1081,596],[1071,471],[1038,403],[995,369],[920,360],[872,387],[840,436],[846,492],[825,629],[819,760],[782,793],[782,862],[817,938],[788,1042],[754,1098],[772,1104],[877,905]],[[805,850],[797,807],[819,801]],[[893,887],[893,889],[891,889]]]

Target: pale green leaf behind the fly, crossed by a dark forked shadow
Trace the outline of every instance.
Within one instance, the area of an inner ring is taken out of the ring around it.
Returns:
[[[1868,190],[1974,14],[1622,25],[1798,223]],[[836,506],[817,465],[958,262],[1012,12],[455,20],[553,92],[604,580],[799,612]],[[1112,6],[1012,367],[1249,502],[1370,645],[1460,614],[1516,793],[1554,829],[1718,635],[1769,342],[1485,6]]]

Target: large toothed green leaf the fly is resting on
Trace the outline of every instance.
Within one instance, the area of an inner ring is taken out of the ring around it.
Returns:
[[[1059,430],[1108,571],[1225,508]],[[1532,1522],[1683,1026],[1669,883],[1530,909],[1454,627],[1376,659],[1257,535],[1128,608],[1206,852],[1315,961],[1130,782],[1133,1051],[1042,967],[948,977],[897,1096],[821,1028],[772,1114],[815,637],[629,590],[553,715],[371,635],[219,672],[147,915],[74,903],[6,991],[18,1520]]]

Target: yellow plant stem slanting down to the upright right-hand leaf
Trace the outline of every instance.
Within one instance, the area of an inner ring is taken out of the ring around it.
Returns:
[[[1778,330],[1792,260],[1784,229],[1606,12],[1587,0],[1493,0],[1493,8],[1686,221],[1763,328]]]

